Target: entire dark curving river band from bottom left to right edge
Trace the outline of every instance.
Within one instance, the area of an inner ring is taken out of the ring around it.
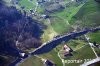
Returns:
[[[31,57],[32,55],[39,55],[39,54],[43,54],[43,53],[47,53],[47,52],[51,51],[53,48],[55,48],[57,45],[61,44],[61,42],[63,42],[63,41],[67,42],[78,36],[84,35],[89,32],[95,32],[98,30],[100,30],[100,27],[97,27],[94,29],[83,30],[80,32],[75,32],[75,33],[71,33],[69,35],[63,35],[58,38],[54,38],[53,40],[50,40],[50,41],[42,44],[39,48],[35,49],[34,51],[29,52],[28,55],[25,55],[22,58],[18,58],[17,60],[12,62],[9,66],[17,66],[19,63],[23,62],[25,59]]]

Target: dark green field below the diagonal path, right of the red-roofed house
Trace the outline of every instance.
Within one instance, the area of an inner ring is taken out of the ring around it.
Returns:
[[[81,45],[82,44],[79,44],[77,47],[79,48],[79,47],[81,47]],[[95,54],[93,53],[93,50],[91,49],[91,47],[89,45],[86,45],[83,48],[72,52],[72,54],[73,54],[73,56],[65,58],[65,61],[66,60],[82,60],[82,62],[80,62],[80,63],[66,63],[65,62],[66,66],[80,66],[80,64],[83,64],[85,62],[85,59],[96,58]]]

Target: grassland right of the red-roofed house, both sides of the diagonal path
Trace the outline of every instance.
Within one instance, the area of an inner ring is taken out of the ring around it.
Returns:
[[[80,66],[80,64],[83,64],[85,62],[85,59],[94,59],[96,58],[95,54],[93,53],[93,50],[89,46],[88,43],[86,43],[83,40],[72,40],[67,42],[68,46],[71,47],[73,50],[72,57],[66,57],[65,61],[68,60],[82,60],[81,63],[66,63],[66,66]],[[85,45],[85,46],[84,46]],[[84,46],[84,47],[82,47]],[[82,47],[82,48],[80,48]],[[80,48],[80,49],[79,49]]]

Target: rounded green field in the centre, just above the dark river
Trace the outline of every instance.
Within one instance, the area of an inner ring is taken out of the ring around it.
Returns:
[[[73,28],[68,24],[67,20],[60,17],[51,18],[51,26],[58,34],[64,34],[73,31]]]

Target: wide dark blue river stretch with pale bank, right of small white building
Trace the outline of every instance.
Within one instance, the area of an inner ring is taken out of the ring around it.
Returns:
[[[83,30],[80,32],[75,32],[75,33],[71,33],[69,35],[63,35],[60,36],[58,38],[54,38],[46,43],[44,43],[43,45],[41,45],[39,48],[35,49],[34,51],[30,52],[32,55],[34,54],[43,54],[43,53],[47,53],[49,51],[51,51],[53,48],[55,48],[57,45],[59,45],[62,41],[69,41],[73,38],[76,38],[78,36],[84,35],[88,32],[93,32],[93,31],[97,31],[100,30],[100,28],[95,28],[95,29],[89,29],[89,30]]]

